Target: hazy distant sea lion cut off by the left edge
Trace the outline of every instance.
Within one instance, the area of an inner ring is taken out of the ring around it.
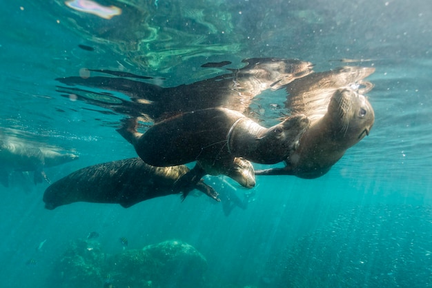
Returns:
[[[61,154],[48,148],[40,148],[20,141],[0,141],[0,182],[9,186],[9,175],[12,171],[34,172],[34,182],[50,183],[43,171],[44,167],[52,167],[77,159],[75,154]]]

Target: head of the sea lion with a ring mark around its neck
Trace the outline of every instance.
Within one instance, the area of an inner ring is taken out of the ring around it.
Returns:
[[[303,114],[288,116],[281,123],[270,127],[260,134],[259,158],[257,163],[275,164],[283,161],[300,145],[300,138],[310,125],[308,117]]]

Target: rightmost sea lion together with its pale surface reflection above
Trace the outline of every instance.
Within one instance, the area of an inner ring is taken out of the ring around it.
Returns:
[[[257,170],[255,174],[300,178],[326,174],[349,147],[369,135],[375,114],[371,103],[359,92],[371,89],[371,83],[362,79],[374,70],[344,67],[310,74],[287,85],[287,108],[293,114],[306,114],[311,126],[302,135],[297,150],[286,158],[286,167]]]

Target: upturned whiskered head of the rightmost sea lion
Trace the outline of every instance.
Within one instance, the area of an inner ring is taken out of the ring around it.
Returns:
[[[371,103],[351,89],[339,89],[333,94],[326,116],[335,130],[333,137],[342,138],[346,149],[358,143],[371,131],[375,114]]]

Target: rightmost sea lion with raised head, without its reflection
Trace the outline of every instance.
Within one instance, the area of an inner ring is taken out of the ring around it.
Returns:
[[[339,161],[349,147],[369,135],[375,115],[371,103],[350,89],[333,93],[328,110],[300,138],[300,145],[286,158],[284,168],[257,170],[257,175],[320,177]]]

